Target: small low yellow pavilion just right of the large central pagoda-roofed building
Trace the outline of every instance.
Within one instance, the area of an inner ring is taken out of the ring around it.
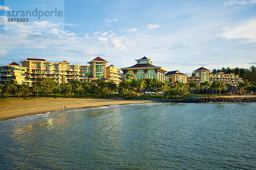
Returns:
[[[165,80],[168,81],[169,83],[173,84],[175,81],[180,81],[181,83],[187,83],[187,76],[186,74],[181,73],[180,71],[171,71],[167,72],[165,74]]]

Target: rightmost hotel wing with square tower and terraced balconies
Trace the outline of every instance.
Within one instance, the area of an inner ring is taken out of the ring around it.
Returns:
[[[239,78],[239,75],[235,75],[233,73],[224,74],[224,72],[217,72],[215,74],[209,73],[210,70],[201,67],[196,69],[194,77],[187,77],[187,83],[195,82],[196,85],[199,85],[202,82],[209,81],[212,83],[213,81],[221,80],[227,85],[238,86],[240,82],[242,82],[242,78]]]

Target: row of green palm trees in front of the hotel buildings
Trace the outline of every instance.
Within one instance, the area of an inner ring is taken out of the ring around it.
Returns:
[[[242,92],[247,92],[247,90],[253,86],[249,80],[244,80],[239,84],[238,90]],[[138,98],[143,94],[145,89],[154,89],[158,94],[162,94],[164,98],[181,98],[184,95],[190,93],[197,94],[198,92],[203,92],[204,94],[209,93],[213,94],[218,92],[221,95],[221,92],[225,92],[227,89],[226,84],[222,81],[214,81],[209,83],[208,81],[202,82],[199,85],[196,85],[195,82],[190,82],[189,84],[183,84],[179,81],[171,84],[168,81],[161,82],[158,79],[150,78],[140,78],[139,80],[131,79],[122,81],[117,86],[114,81],[104,82],[101,80],[95,80],[92,82],[80,82],[77,80],[71,80],[69,83],[57,84],[55,81],[50,80],[49,78],[39,78],[35,86],[29,87],[26,84],[17,84],[17,81],[7,81],[5,85],[0,85],[0,95],[3,96],[3,93],[6,92],[6,98],[9,95],[15,96],[31,94],[34,97],[38,95],[48,97],[55,96],[56,94],[61,94],[61,96],[66,97],[87,97],[88,95],[96,98],[110,98],[114,97],[116,94],[127,98]]]

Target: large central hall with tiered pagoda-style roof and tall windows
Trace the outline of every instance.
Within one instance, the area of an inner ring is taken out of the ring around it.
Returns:
[[[161,66],[154,66],[153,60],[146,58],[140,58],[137,61],[137,64],[130,67],[121,68],[123,72],[123,79],[130,80],[135,79],[138,80],[140,78],[157,78],[160,81],[164,81],[164,75],[168,72],[167,69]]]

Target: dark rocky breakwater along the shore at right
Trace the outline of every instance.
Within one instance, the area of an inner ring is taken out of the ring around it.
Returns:
[[[134,98],[134,100],[153,100],[158,102],[177,102],[177,103],[219,103],[219,102],[242,102],[252,103],[256,102],[256,97],[196,97],[192,96],[189,98],[180,99],[159,99],[159,98]]]

